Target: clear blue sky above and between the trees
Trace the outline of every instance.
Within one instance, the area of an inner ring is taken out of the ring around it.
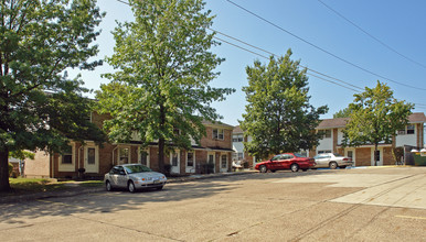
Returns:
[[[376,80],[386,82],[394,90],[395,98],[416,103],[415,112],[426,111],[426,1],[232,2],[206,1],[205,10],[212,10],[212,14],[216,15],[212,29],[276,55],[285,55],[291,48],[292,59],[300,59],[302,66],[339,79],[327,78],[341,86],[309,76],[310,103],[315,107],[327,105],[330,109],[321,118],[332,118],[333,113],[348,107],[356,90],[353,86],[372,88]],[[129,6],[117,0],[98,0],[98,6],[107,13],[100,24],[103,32],[96,41],[100,48],[97,58],[104,58],[114,53],[115,41],[110,32],[116,26],[115,21],[131,21],[132,12]],[[269,55],[221,34],[216,36],[264,56]],[[236,89],[236,92],[227,96],[225,101],[214,103],[214,107],[223,116],[223,122],[237,125],[246,105],[242,91],[242,87],[247,86],[245,67],[253,65],[255,59],[265,64],[267,59],[224,42],[212,51],[226,61],[219,66],[221,75],[211,85]],[[102,78],[100,74],[111,72],[114,69],[104,64],[94,72],[83,72],[82,77],[86,87],[99,89],[100,84],[109,81]],[[76,73],[70,72],[72,76]]]

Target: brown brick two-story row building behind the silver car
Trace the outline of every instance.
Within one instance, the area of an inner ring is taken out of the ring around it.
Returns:
[[[92,122],[102,127],[107,116],[93,113]],[[231,170],[232,158],[232,125],[224,123],[203,122],[206,135],[200,145],[192,143],[192,150],[174,150],[166,155],[164,164],[171,165],[172,174],[205,173],[206,164],[212,164],[212,172]],[[104,143],[96,145],[86,141],[84,145],[70,142],[70,148],[64,154],[49,154],[39,151],[34,160],[25,162],[26,177],[78,177],[79,170],[85,170],[86,177],[102,177],[113,165],[124,163],[139,163],[153,170],[159,170],[158,144],[152,142],[141,148],[140,142],[134,139],[129,143]]]

